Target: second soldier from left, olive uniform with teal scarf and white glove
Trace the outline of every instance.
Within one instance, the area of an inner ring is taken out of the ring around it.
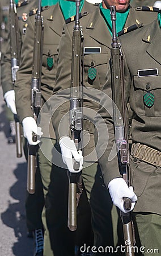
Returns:
[[[82,11],[90,11],[96,6],[82,1]],[[44,23],[43,61],[41,74],[41,94],[43,102],[46,102],[53,92],[57,70],[57,47],[62,35],[62,26],[65,19],[75,14],[75,2],[59,1],[57,5],[44,7],[42,11]],[[22,47],[22,64],[17,72],[15,83],[16,108],[23,129],[31,129],[34,126],[33,113],[31,110],[31,74],[34,39],[35,16],[28,20],[26,39]],[[49,110],[45,110],[49,116]],[[26,123],[24,124],[24,121]],[[41,148],[45,148],[44,155],[39,148],[39,166],[44,185],[45,216],[43,213],[44,234],[44,255],[71,256],[74,255],[75,233],[67,228],[67,176],[63,170],[52,166],[53,144],[56,144],[56,137],[52,125],[50,134],[45,133],[42,126],[43,137]],[[57,156],[54,156],[57,157]],[[54,200],[50,200],[50,198]]]

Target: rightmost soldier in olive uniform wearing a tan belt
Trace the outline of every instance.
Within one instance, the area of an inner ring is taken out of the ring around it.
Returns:
[[[99,159],[105,185],[113,198],[113,203],[122,207],[122,197],[130,196],[134,206],[133,217],[137,224],[143,255],[159,255],[161,251],[160,228],[160,40],[161,13],[149,25],[120,37],[125,56],[125,96],[134,112],[132,121],[132,151],[130,155],[130,180],[134,192],[122,181],[118,170],[117,153],[112,150],[115,141],[112,115],[108,110],[111,97],[111,79],[103,88],[97,127],[107,125],[108,144],[98,137],[105,149]],[[133,52],[133,54],[132,54]],[[106,111],[105,111],[106,110]],[[99,130],[99,129],[98,129]],[[101,130],[100,130],[101,132]],[[100,155],[101,152],[98,151]],[[112,160],[109,159],[109,154]],[[119,185],[120,184],[120,185]],[[121,186],[121,187],[120,187]],[[118,199],[120,195],[120,199]],[[137,197],[135,197],[137,195]]]

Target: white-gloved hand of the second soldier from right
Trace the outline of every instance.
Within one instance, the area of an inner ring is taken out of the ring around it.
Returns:
[[[60,139],[60,147],[62,153],[63,163],[67,165],[70,172],[80,172],[83,168],[83,156],[82,151],[77,150],[75,143],[69,137],[65,136]],[[73,168],[73,158],[79,163],[79,170],[76,171]]]

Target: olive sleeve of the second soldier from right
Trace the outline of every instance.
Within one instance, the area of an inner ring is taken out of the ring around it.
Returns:
[[[67,26],[64,25],[62,38],[58,46],[56,85],[53,91],[53,96],[50,99],[52,123],[56,132],[57,141],[59,141],[61,137],[69,135],[71,49],[71,35]]]

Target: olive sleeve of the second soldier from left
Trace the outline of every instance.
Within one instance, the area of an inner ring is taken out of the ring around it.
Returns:
[[[19,70],[16,73],[17,80],[15,82],[15,98],[16,109],[20,121],[28,116],[33,117],[31,110],[31,77],[33,61],[34,20],[34,16],[31,16],[31,18],[28,19],[28,27],[21,49],[21,63]]]

